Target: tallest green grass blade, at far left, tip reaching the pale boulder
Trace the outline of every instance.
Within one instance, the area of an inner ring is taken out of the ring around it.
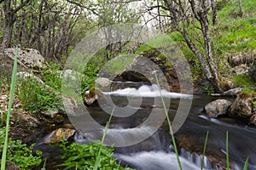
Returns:
[[[6,163],[6,153],[7,153],[7,148],[8,148],[8,133],[9,133],[9,117],[10,117],[10,111],[11,111],[14,96],[15,96],[15,82],[16,82],[16,73],[17,73],[17,56],[18,56],[18,49],[16,48],[15,64],[14,64],[13,74],[12,74],[12,81],[11,81],[10,94],[9,94],[8,113],[7,113],[7,118],[6,118],[5,139],[4,139],[4,145],[3,145],[1,170],[5,170],[5,163]]]

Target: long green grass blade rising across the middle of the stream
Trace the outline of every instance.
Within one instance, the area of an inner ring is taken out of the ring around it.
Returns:
[[[154,71],[154,76],[155,76],[155,79],[156,79],[156,82],[157,82],[157,85],[160,89],[160,83],[158,81],[158,77],[156,75],[156,71]],[[179,156],[178,156],[178,152],[177,152],[177,144],[176,144],[176,141],[175,141],[175,138],[174,138],[174,134],[173,134],[173,131],[172,131],[172,123],[170,121],[170,117],[168,115],[168,111],[166,109],[166,104],[165,104],[165,100],[163,98],[163,95],[162,95],[162,92],[161,92],[161,89],[160,89],[160,97],[161,97],[161,100],[162,100],[162,103],[163,103],[163,106],[164,106],[164,110],[166,112],[166,119],[167,119],[167,122],[168,122],[168,125],[169,125],[169,129],[170,129],[170,133],[171,133],[171,136],[172,136],[172,143],[173,143],[173,147],[174,147],[174,150],[175,150],[175,154],[176,154],[176,157],[177,157],[177,163],[178,163],[178,167],[180,170],[183,169],[182,165],[181,165],[181,161],[179,159]]]

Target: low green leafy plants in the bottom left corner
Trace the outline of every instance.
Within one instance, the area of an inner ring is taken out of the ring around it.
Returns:
[[[0,129],[0,150],[3,150],[4,131],[4,128]],[[32,156],[33,144],[27,147],[21,140],[9,139],[8,148],[6,161],[13,161],[22,169],[30,169],[29,167],[38,166],[41,163],[40,151],[37,151],[38,156]]]

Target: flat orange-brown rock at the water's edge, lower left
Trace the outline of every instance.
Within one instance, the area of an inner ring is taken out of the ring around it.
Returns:
[[[69,139],[76,131],[69,128],[59,128],[52,133],[49,133],[43,139],[44,144],[55,144],[61,142],[62,139]]]

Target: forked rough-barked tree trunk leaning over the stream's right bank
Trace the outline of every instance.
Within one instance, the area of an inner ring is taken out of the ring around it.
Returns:
[[[164,16],[168,18],[168,24],[171,26],[172,31],[178,31],[183,35],[189,48],[200,60],[207,80],[212,83],[216,91],[224,91],[218,67],[212,56],[211,37],[209,35],[208,15],[211,8],[216,10],[215,1],[162,0],[159,5],[149,5],[150,10],[154,8],[162,8],[167,12]],[[216,15],[214,13],[216,11],[213,11],[213,15]],[[217,22],[217,15],[213,16],[213,22]],[[197,29],[195,30],[196,33],[199,33],[199,30],[200,37],[203,37],[199,43],[196,43],[196,39],[191,36],[193,34],[191,30],[193,29]]]

